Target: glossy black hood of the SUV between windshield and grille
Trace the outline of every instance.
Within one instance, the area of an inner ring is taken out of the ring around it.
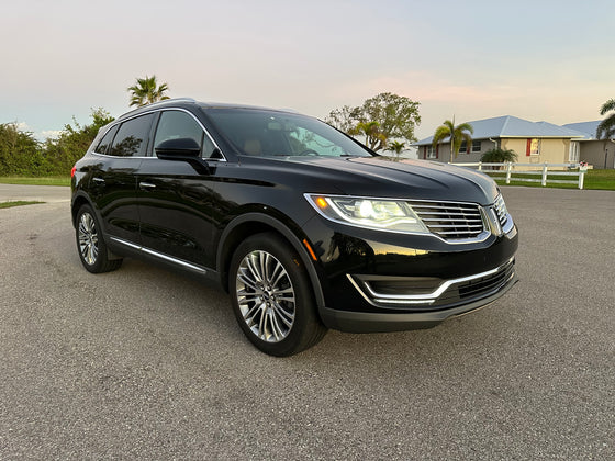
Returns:
[[[454,200],[488,205],[499,194],[497,185],[487,175],[436,161],[391,161],[384,157],[306,156],[284,159],[301,164],[304,173],[334,180],[340,193],[349,195]]]

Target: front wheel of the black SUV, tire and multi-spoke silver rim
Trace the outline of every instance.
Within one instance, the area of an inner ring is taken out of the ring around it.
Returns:
[[[326,334],[305,267],[297,251],[272,233],[244,240],[231,260],[233,311],[262,352],[286,357],[309,349]]]

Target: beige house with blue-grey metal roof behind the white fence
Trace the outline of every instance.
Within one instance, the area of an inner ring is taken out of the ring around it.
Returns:
[[[432,145],[433,136],[413,144],[418,149],[418,158],[445,162],[480,161],[485,151],[501,147],[514,150],[518,156],[517,161],[522,164],[588,161],[595,165],[596,168],[614,167],[613,160],[610,160],[606,167],[604,166],[604,149],[610,150],[608,159],[612,159],[615,156],[615,144],[608,140],[596,140],[595,127],[593,127],[593,138],[590,136],[592,124],[597,126],[600,122],[559,126],[548,122],[530,122],[504,115],[468,123],[474,130],[472,143],[471,145],[463,143],[457,158],[452,160],[450,158],[450,138],[444,139],[437,147],[434,147]],[[601,155],[602,161],[597,161]]]

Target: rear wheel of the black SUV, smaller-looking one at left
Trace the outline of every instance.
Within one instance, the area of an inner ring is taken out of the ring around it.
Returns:
[[[77,251],[83,267],[92,273],[109,272],[122,266],[122,259],[109,259],[102,229],[90,205],[82,205],[77,213],[75,236]]]

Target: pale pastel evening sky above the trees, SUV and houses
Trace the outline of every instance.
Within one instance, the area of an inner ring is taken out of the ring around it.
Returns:
[[[613,0],[3,1],[0,123],[38,138],[130,110],[155,75],[172,98],[325,117],[380,92],[447,119],[600,120],[615,98]]]

